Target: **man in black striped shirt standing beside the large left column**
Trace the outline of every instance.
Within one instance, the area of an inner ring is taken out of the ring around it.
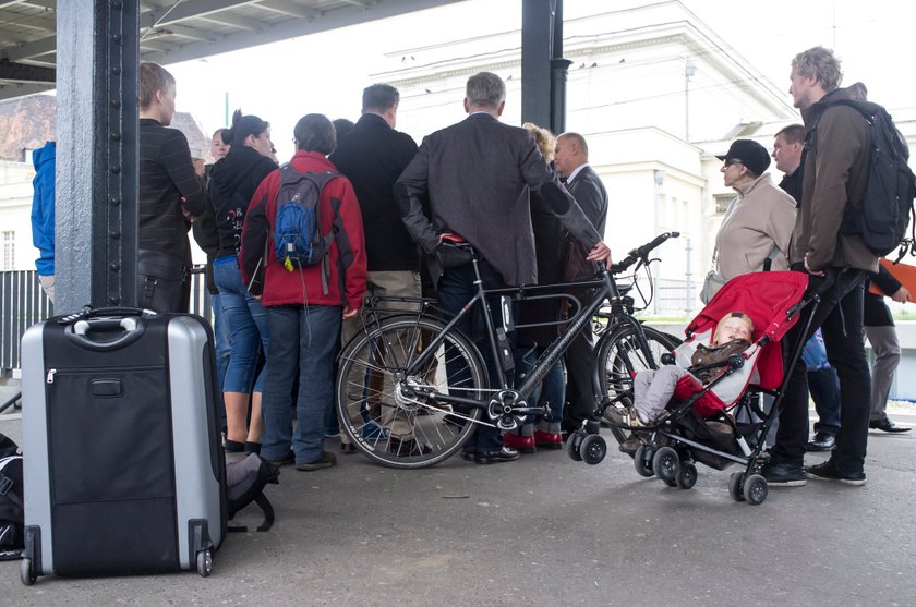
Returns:
[[[188,139],[166,129],[174,117],[174,77],[161,65],[140,64],[140,238],[137,305],[186,312],[191,282],[192,217],[208,202],[194,171]]]

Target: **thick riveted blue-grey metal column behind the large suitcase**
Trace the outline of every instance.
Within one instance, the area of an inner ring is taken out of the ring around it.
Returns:
[[[59,2],[55,309],[136,304],[138,2]]]

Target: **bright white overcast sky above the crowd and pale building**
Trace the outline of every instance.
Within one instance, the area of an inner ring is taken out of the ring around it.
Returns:
[[[566,19],[618,10],[634,0],[565,0]],[[648,3],[648,2],[646,2]],[[792,57],[816,45],[843,61],[844,85],[861,81],[869,97],[889,109],[916,106],[911,64],[916,4],[892,0],[684,0],[701,21],[776,86],[786,90]],[[359,117],[370,74],[397,68],[385,51],[435,45],[520,26],[521,0],[468,0],[346,29],[275,43],[206,60],[170,65],[178,78],[178,109],[190,111],[207,133],[224,125],[225,99],[272,123],[279,157],[292,153],[296,121],[308,112]],[[486,19],[481,19],[485,15]],[[447,28],[443,24],[448,24]],[[290,93],[285,83],[299,78]],[[302,93],[301,90],[308,90]],[[462,118],[456,105],[454,117]]]

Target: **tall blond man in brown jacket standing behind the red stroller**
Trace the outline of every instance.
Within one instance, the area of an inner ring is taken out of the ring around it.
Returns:
[[[790,338],[792,352],[798,340],[807,340],[821,327],[830,364],[836,368],[840,394],[840,432],[830,459],[804,468],[808,440],[808,386],[804,362],[799,359],[786,369],[786,388],[776,445],[772,460],[763,469],[771,486],[800,486],[806,478],[839,481],[863,485],[868,441],[871,378],[863,340],[863,283],[868,272],[878,271],[878,254],[866,245],[863,233],[854,233],[844,221],[861,213],[869,182],[871,129],[849,101],[873,110],[866,102],[860,83],[839,88],[840,61],[831,50],[815,47],[792,61],[790,94],[801,110],[806,131],[804,187],[791,262],[793,269],[810,276],[809,292],[822,292],[808,333],[803,312]]]

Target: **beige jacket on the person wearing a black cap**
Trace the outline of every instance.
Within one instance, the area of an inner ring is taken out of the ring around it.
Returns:
[[[728,206],[715,235],[716,271],[725,280],[761,271],[778,250],[770,269],[788,269],[788,251],[795,226],[795,201],[773,185],[770,173],[735,187],[738,197]]]

